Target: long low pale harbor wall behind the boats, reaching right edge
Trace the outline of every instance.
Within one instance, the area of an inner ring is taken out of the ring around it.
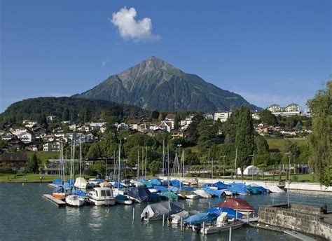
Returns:
[[[160,176],[160,178],[162,178],[162,176]],[[167,178],[167,177],[164,177]],[[185,177],[185,178],[181,178],[181,179],[186,179],[186,180],[190,180],[190,179],[194,179],[193,177]],[[199,184],[208,184],[208,183],[215,183],[217,181],[222,181],[225,184],[230,184],[232,183],[234,180],[233,179],[202,179],[199,178],[198,182]],[[236,180],[237,182],[242,181],[242,180]],[[277,181],[251,181],[251,180],[244,180],[244,182],[247,185],[251,185],[252,183],[254,184],[258,184],[260,186],[276,186],[278,185]],[[285,188],[288,188],[288,184],[286,184]],[[332,193],[332,186],[322,186],[320,184],[314,184],[314,183],[303,183],[303,182],[291,182],[291,184],[289,184],[289,189],[291,190],[302,190],[302,191],[323,191],[323,192],[330,192]]]

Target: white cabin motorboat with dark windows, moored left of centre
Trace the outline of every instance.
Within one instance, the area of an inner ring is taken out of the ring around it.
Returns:
[[[93,188],[93,191],[88,193],[89,201],[97,206],[111,206],[116,204],[116,199],[113,198],[113,191],[111,188]]]

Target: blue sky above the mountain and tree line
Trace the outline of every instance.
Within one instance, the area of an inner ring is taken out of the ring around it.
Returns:
[[[261,107],[304,109],[332,72],[328,0],[0,4],[0,112],[83,92],[151,55]]]

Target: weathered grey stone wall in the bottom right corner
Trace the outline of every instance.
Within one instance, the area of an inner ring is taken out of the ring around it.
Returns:
[[[291,206],[293,206],[293,209],[261,206],[259,207],[258,221],[261,223],[267,223],[271,226],[289,228],[291,230],[319,235],[328,240],[332,240],[331,223],[321,221],[322,218],[319,214],[310,213],[311,210],[312,212],[317,213],[317,207],[305,205]]]

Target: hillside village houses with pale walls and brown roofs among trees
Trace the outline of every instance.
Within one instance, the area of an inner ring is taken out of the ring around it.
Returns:
[[[285,108],[277,104],[272,104],[268,110],[275,116],[300,116],[298,104],[289,104]],[[214,114],[205,113],[205,118],[221,123],[227,121],[233,111],[218,111]],[[258,111],[251,113],[254,122],[254,130],[262,136],[301,136],[303,133],[310,133],[310,126],[286,126],[284,124],[269,125],[263,123]],[[48,123],[55,123],[52,130],[46,130],[41,123],[33,120],[24,120],[22,123],[6,123],[0,129],[0,137],[9,149],[20,149],[27,151],[45,151],[56,152],[60,150],[60,142],[71,142],[75,137],[76,141],[82,143],[91,143],[96,139],[102,139],[109,125],[117,132],[122,130],[129,131],[132,134],[141,132],[144,135],[153,136],[160,131],[170,132],[172,139],[186,136],[186,130],[191,124],[194,115],[178,121],[173,113],[166,113],[161,121],[147,121],[146,117],[129,119],[123,123],[90,122],[82,123],[80,121],[71,123],[71,121],[60,121],[57,116],[46,116]]]

